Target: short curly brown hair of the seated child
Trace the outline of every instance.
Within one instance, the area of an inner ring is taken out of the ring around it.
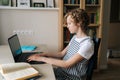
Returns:
[[[82,31],[87,34],[88,25],[89,25],[89,16],[87,12],[80,8],[71,10],[64,16],[64,25],[67,25],[67,17],[69,15],[74,20],[75,24],[80,23]]]

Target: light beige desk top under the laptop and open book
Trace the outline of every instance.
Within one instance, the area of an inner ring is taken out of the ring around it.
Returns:
[[[8,45],[0,46],[0,64],[2,63],[14,63],[12,53]],[[36,64],[32,65],[43,76],[38,80],[55,80],[52,65],[50,64]],[[0,80],[2,80],[0,76]]]

